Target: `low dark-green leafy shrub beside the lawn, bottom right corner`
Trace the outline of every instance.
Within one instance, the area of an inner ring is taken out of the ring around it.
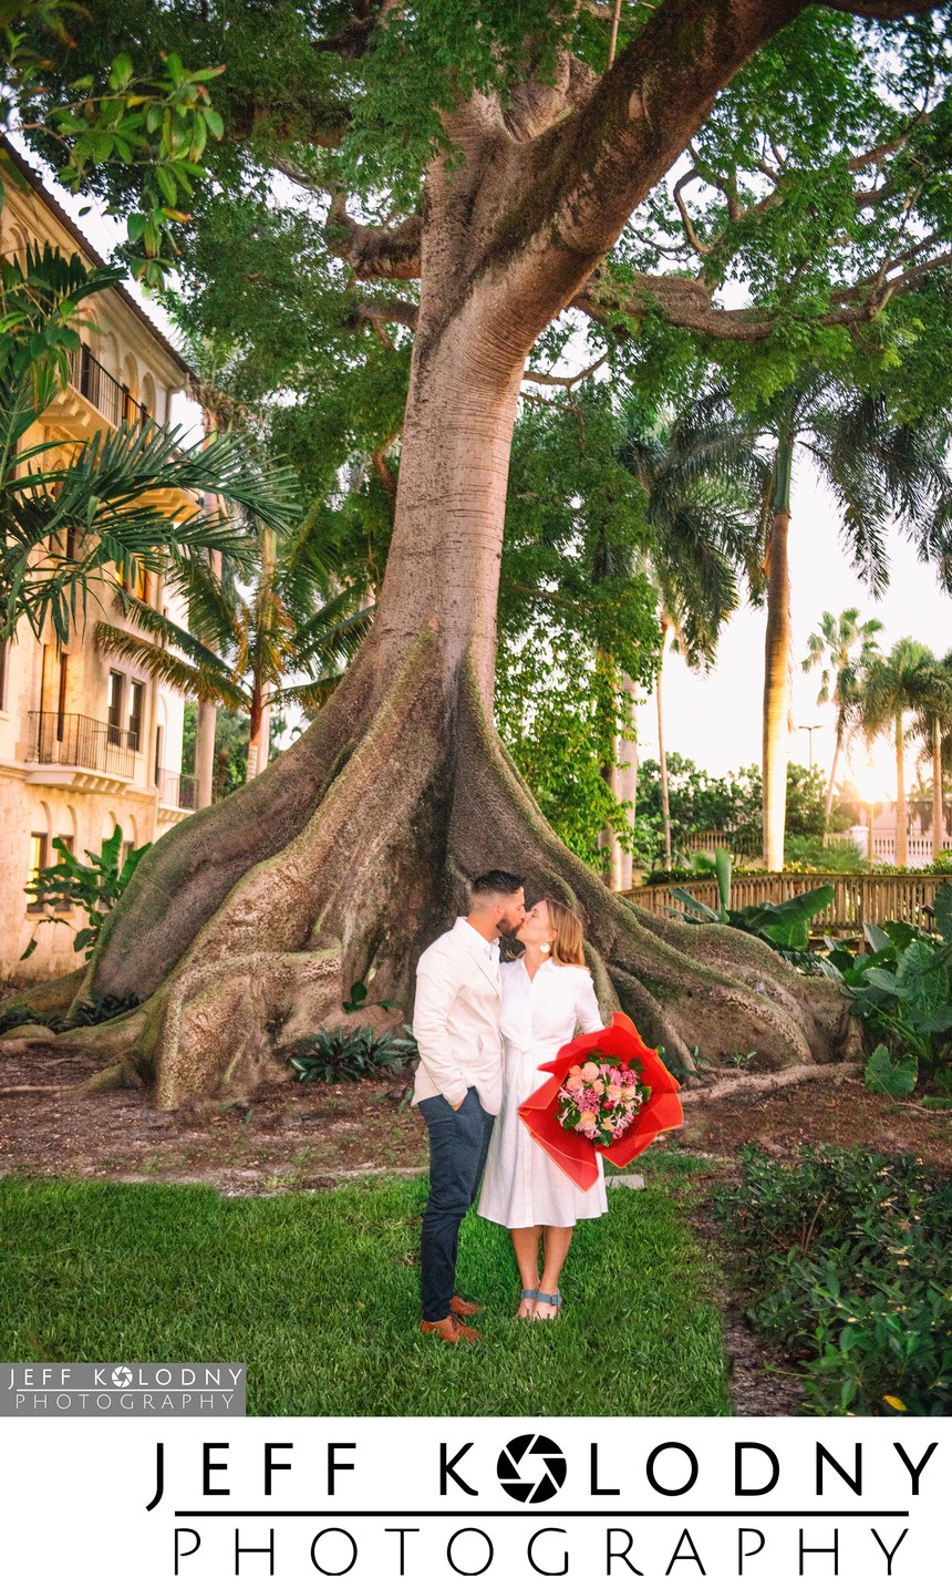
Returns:
[[[952,1413],[952,1179],[909,1154],[806,1149],[777,1165],[742,1154],[717,1193],[749,1317],[804,1371],[815,1414]]]

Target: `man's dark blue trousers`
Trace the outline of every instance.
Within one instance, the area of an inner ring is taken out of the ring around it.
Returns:
[[[429,1133],[429,1201],[420,1241],[420,1290],[423,1317],[435,1324],[450,1313],[459,1225],[478,1192],[496,1115],[483,1109],[475,1087],[469,1088],[458,1109],[442,1093],[421,1098],[418,1108]]]

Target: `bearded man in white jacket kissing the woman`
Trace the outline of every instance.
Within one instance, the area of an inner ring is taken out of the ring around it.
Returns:
[[[475,1341],[462,1322],[478,1313],[455,1295],[459,1225],[475,1200],[493,1122],[502,1104],[499,934],[524,918],[523,880],[485,872],[472,883],[469,915],[420,957],[413,1036],[420,1066],[413,1087],[429,1133],[429,1201],[420,1243],[424,1335]]]

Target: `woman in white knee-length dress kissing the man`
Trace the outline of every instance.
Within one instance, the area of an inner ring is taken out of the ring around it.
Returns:
[[[499,968],[502,985],[502,1109],[490,1139],[480,1214],[505,1225],[523,1281],[520,1319],[555,1319],[559,1274],[579,1219],[607,1214],[601,1154],[596,1184],[582,1192],[529,1136],[518,1108],[548,1081],[539,1066],[555,1060],[579,1028],[604,1026],[582,955],[582,923],[564,904],[540,899],[517,938],[521,960]],[[542,1243],[542,1273],[539,1271]]]

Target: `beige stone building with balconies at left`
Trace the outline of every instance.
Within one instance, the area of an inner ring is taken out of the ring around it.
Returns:
[[[10,148],[10,146],[8,146]],[[0,253],[22,259],[27,240],[49,242],[64,254],[100,264],[95,249],[10,149],[27,186],[6,188],[0,211]],[[94,294],[83,305],[83,348],[72,359],[70,383],[22,447],[43,440],[83,440],[122,419],[165,423],[172,397],[184,389],[189,369],[124,288]],[[167,494],[172,518],[195,510],[192,497]],[[140,597],[176,623],[184,613],[173,591],[145,570]],[[24,621],[0,647],[0,976],[48,977],[79,963],[73,936],[84,915],[43,926],[38,947],[21,955],[38,923],[24,885],[40,866],[56,861],[62,837],[81,860],[97,852],[116,825],[124,845],[141,845],[181,822],[195,804],[194,780],[181,772],[184,701],[145,669],[97,650],[95,623],[130,628],[108,594],[91,588],[86,620],[67,645],[51,628],[40,640]]]

